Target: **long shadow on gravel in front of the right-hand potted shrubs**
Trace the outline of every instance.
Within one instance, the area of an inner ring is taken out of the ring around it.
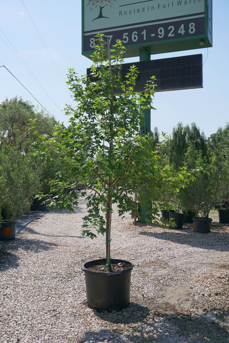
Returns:
[[[219,232],[219,229],[212,228],[210,233],[194,233],[191,229],[176,230],[172,232],[146,232],[141,231],[139,235],[154,237],[161,240],[171,241],[173,243],[187,244],[191,247],[201,248],[206,250],[218,250],[218,251],[229,251],[228,241],[229,233]],[[208,245],[208,237],[213,237],[211,244]]]

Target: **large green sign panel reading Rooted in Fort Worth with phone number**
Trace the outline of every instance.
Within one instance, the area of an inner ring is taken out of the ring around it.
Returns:
[[[212,46],[212,0],[82,0],[82,55],[90,58],[96,33],[121,39],[124,57]]]

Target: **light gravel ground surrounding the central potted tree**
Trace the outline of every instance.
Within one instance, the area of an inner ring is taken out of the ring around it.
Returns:
[[[81,265],[105,257],[105,240],[82,237],[85,208],[47,213],[0,250],[0,342],[229,342],[229,227],[216,211],[209,234],[114,213],[112,257],[135,264],[130,305],[97,313]]]

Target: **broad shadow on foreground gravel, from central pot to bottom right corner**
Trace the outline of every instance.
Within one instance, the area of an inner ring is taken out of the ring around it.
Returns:
[[[157,305],[154,309],[156,307]],[[130,307],[124,312],[95,313],[102,320],[101,326],[105,326],[108,321],[114,323],[114,328],[99,331],[88,330],[78,342],[94,343],[105,340],[105,342],[118,343],[228,343],[228,330],[222,323],[215,323],[201,315],[192,316],[179,313],[179,311],[165,314],[164,311],[158,310],[143,317],[146,311],[149,311],[147,307],[130,303]],[[126,318],[125,312],[130,317]],[[140,316],[137,316],[136,314],[139,313],[141,313]]]

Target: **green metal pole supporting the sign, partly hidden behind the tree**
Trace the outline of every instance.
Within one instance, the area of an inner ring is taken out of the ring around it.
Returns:
[[[151,59],[151,54],[150,54],[150,50],[141,50],[140,54],[139,54],[139,60],[141,61],[150,61]],[[144,114],[144,118],[145,118],[145,124],[144,126],[141,127],[141,134],[143,136],[147,135],[148,133],[150,134],[151,132],[151,110],[150,108],[146,108],[143,110],[143,114]],[[147,198],[147,192],[145,193],[145,196]],[[150,207],[150,204],[149,204]],[[146,223],[146,218],[147,218],[147,214],[146,214],[146,209],[142,206],[140,206],[139,208],[139,213],[140,213],[140,218],[138,218],[138,221],[140,223]]]

